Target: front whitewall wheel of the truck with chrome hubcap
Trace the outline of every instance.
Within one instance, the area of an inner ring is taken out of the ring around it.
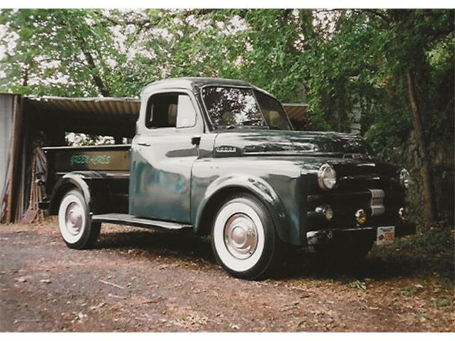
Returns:
[[[279,240],[266,207],[249,194],[234,195],[215,216],[212,248],[218,264],[238,278],[266,276],[277,263]]]

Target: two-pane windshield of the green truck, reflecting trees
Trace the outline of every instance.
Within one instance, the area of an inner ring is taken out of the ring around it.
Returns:
[[[267,126],[290,130],[279,102],[244,87],[204,87],[203,101],[215,126]]]

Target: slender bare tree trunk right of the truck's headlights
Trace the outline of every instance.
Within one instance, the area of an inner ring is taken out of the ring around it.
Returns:
[[[434,188],[432,180],[432,163],[427,151],[427,144],[425,141],[424,131],[422,129],[422,115],[419,111],[419,104],[417,102],[417,93],[414,81],[414,74],[412,70],[407,70],[407,90],[410,96],[410,106],[412,112],[412,125],[419,146],[420,158],[422,158],[422,195],[424,199],[424,221],[427,224],[434,222],[437,217],[436,205],[434,200]]]

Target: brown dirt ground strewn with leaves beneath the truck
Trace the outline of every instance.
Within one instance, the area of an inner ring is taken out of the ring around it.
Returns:
[[[0,331],[455,331],[453,268],[375,247],[333,269],[305,251],[241,281],[208,239],[104,225],[68,249],[55,220],[0,226]],[[453,264],[452,264],[453,266]]]

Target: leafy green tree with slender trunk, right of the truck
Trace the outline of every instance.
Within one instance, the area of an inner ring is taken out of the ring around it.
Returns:
[[[301,57],[301,70],[309,75],[311,120],[319,128],[328,123],[331,129],[348,130],[343,122],[350,123],[346,114],[357,104],[367,138],[389,159],[394,149],[403,155],[398,146],[413,131],[429,224],[437,218],[430,141],[453,141],[454,136],[454,11],[335,12],[330,21],[336,29],[326,31],[328,36]],[[436,51],[444,58],[432,65]],[[436,94],[441,79],[447,88]],[[436,126],[445,134],[435,134]]]

